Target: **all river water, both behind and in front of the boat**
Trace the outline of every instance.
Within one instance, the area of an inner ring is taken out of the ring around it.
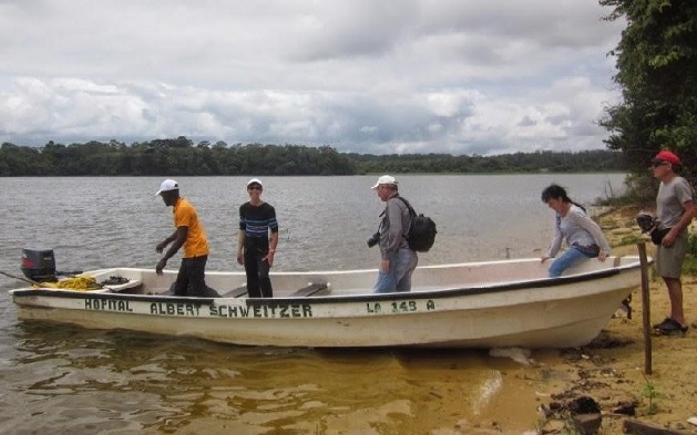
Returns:
[[[181,177],[211,244],[208,270],[235,261],[248,177]],[[376,268],[366,246],[383,208],[376,176],[264,177],[276,207],[276,270]],[[420,265],[539,257],[553,230],[551,183],[577,203],[623,189],[622,174],[404,175],[400,193],[438,225]],[[152,267],[173,231],[162,178],[0,178],[0,271],[22,248],[60,271]],[[178,266],[178,258],[170,261]],[[522,433],[537,418],[536,369],[482,351],[243,348],[17,320],[0,275],[0,434]],[[545,352],[533,358],[544,360]],[[496,432],[493,432],[496,431]]]

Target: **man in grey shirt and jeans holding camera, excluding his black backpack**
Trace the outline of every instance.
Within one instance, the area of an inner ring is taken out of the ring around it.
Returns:
[[[376,293],[392,291],[410,291],[411,275],[417,268],[417,251],[409,249],[407,234],[411,225],[411,216],[407,204],[399,199],[398,183],[391,175],[383,175],[372,186],[378,197],[385,203],[385,211],[380,215],[380,267]]]

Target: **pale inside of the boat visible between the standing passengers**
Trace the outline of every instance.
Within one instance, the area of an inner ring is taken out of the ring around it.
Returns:
[[[650,260],[649,260],[650,261]],[[638,267],[638,257],[611,257],[606,261],[585,261],[570,269],[562,279],[617,268]],[[537,258],[502,261],[422,266],[412,276],[411,292],[447,290],[455,288],[484,288],[495,284],[521,283],[547,278],[549,263]],[[85,272],[94,277],[100,286],[91,292],[116,292],[125,294],[172,294],[171,286],[176,271],[165,271],[157,276],[152,269],[110,268]],[[377,269],[346,271],[306,271],[270,275],[274,298],[356,296],[371,293],[377,278]],[[246,298],[244,272],[208,271],[206,283],[223,298]]]

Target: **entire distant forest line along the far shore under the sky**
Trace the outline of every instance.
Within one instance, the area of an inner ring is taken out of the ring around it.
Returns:
[[[372,155],[330,146],[234,144],[176,138],[0,146],[0,176],[356,175],[625,170],[622,153],[537,152],[498,156]]]

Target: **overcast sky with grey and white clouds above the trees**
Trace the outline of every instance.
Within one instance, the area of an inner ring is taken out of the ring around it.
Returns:
[[[0,142],[604,148],[596,0],[0,0]]]

